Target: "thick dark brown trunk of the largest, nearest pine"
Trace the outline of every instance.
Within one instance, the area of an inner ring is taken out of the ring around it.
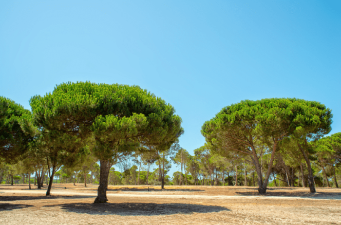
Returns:
[[[106,203],[108,201],[106,191],[108,186],[109,163],[108,160],[100,160],[100,163],[100,186],[98,187],[97,198],[94,200],[94,203]]]

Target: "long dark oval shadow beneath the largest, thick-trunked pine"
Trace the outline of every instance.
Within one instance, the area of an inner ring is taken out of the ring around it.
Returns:
[[[172,214],[193,213],[217,213],[230,211],[225,207],[201,204],[182,203],[66,203],[58,205],[46,205],[45,207],[61,207],[72,213],[84,213],[91,215],[120,215],[120,216],[159,216]]]

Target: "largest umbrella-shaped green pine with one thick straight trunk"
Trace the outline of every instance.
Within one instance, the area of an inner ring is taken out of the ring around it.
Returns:
[[[36,124],[73,136],[75,149],[93,143],[92,153],[101,164],[95,203],[107,201],[115,154],[141,145],[169,148],[183,133],[174,107],[139,86],[69,82],[31,102]]]

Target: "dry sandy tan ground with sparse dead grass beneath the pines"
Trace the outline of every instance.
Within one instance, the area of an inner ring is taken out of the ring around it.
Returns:
[[[0,224],[341,224],[341,191],[232,186],[0,185]],[[66,189],[65,189],[66,188]]]

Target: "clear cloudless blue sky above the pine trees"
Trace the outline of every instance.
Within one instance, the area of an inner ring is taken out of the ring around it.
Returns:
[[[0,96],[29,109],[67,81],[155,93],[191,154],[244,99],[319,101],[341,132],[341,1],[1,1]]]

